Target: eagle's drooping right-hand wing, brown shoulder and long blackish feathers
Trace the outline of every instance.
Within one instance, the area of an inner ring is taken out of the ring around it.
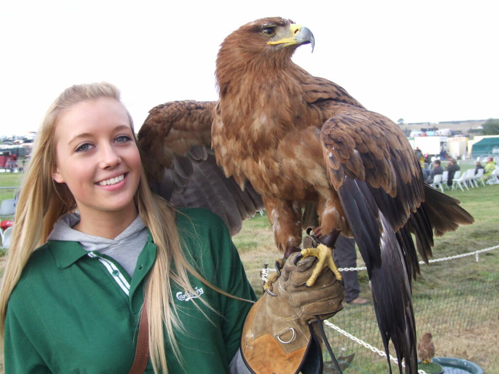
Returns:
[[[405,358],[406,371],[414,373],[411,278],[419,264],[411,230],[426,240],[418,245],[428,251],[424,258],[431,255],[417,160],[386,117],[344,103],[323,103],[322,108],[331,115],[320,135],[329,179],[366,263],[385,351],[391,340],[399,362]]]

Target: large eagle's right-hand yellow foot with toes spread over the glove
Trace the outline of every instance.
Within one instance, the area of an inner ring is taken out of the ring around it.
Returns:
[[[304,248],[301,250],[301,255],[296,256],[295,262],[297,262],[302,257],[315,256],[318,259],[317,265],[310,278],[308,278],[306,285],[308,287],[312,286],[317,280],[318,276],[322,270],[327,266],[336,276],[336,279],[341,281],[343,277],[341,272],[338,270],[334,260],[333,260],[333,250],[334,243],[339,236],[340,231],[334,230],[333,232],[325,235],[323,237],[317,238],[320,242],[316,248]]]

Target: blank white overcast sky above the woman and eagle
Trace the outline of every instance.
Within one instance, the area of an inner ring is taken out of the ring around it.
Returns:
[[[0,135],[35,131],[74,83],[109,81],[140,128],[166,101],[216,100],[225,36],[291,18],[315,36],[293,59],[394,121],[499,118],[496,1],[6,0]]]

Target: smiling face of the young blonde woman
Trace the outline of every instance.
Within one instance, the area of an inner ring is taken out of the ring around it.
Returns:
[[[119,101],[102,97],[71,106],[57,119],[55,141],[52,178],[67,185],[82,218],[104,212],[137,214],[133,197],[140,155]]]

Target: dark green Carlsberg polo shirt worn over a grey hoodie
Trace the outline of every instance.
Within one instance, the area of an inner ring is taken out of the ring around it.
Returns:
[[[188,260],[212,284],[254,300],[222,220],[205,209],[181,212],[177,225]],[[5,374],[128,373],[144,285],[155,258],[150,234],[131,278],[115,260],[87,252],[78,242],[49,241],[37,249],[8,302]],[[227,373],[251,304],[213,291],[194,277],[191,284],[196,295],[186,295],[171,282],[185,331],[176,331],[181,362],[167,342],[169,373]],[[146,373],[153,373],[150,362]]]

